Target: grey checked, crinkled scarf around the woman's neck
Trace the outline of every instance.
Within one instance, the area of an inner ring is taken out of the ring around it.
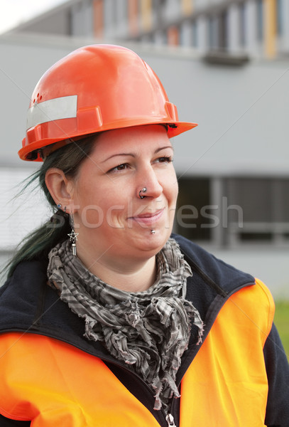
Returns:
[[[125,292],[99,280],[72,255],[69,241],[50,251],[50,286],[85,321],[84,337],[100,341],[109,353],[129,364],[156,397],[155,409],[167,411],[180,397],[175,377],[190,339],[190,322],[203,323],[185,300],[186,279],[192,275],[178,243],[172,238],[156,255],[156,283],[143,292]]]

